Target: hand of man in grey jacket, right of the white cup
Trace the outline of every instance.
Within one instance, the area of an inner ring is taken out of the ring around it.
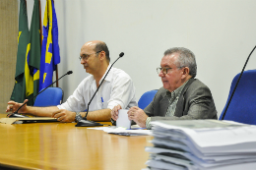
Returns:
[[[136,122],[140,127],[146,128],[146,120],[148,115],[139,107],[134,106],[129,109],[128,118],[129,120],[133,120]]]

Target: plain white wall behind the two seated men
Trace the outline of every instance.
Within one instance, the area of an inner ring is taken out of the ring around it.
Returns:
[[[31,16],[33,0],[27,2]],[[41,6],[43,17],[45,0]],[[156,68],[164,50],[183,46],[195,53],[197,79],[211,88],[220,116],[232,78],[256,44],[254,0],[55,0],[55,9],[59,75],[74,72],[60,81],[65,99],[88,76],[78,57],[89,40],[105,41],[111,61],[125,53],[115,67],[131,76],[137,99],[160,88]],[[255,68],[256,53],[246,70]]]

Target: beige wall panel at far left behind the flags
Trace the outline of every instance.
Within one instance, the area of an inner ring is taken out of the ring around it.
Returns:
[[[15,81],[18,0],[0,1],[0,23],[0,113],[4,113]]]

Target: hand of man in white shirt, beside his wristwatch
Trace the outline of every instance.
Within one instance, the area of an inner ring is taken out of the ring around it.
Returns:
[[[57,118],[59,122],[74,122],[76,112],[71,112],[65,109],[59,109],[52,113],[52,118]]]

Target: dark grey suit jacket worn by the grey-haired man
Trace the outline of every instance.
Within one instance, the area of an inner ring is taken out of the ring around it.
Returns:
[[[182,89],[177,101],[174,116],[165,117],[169,106],[165,88],[161,87],[153,101],[144,109],[156,120],[217,119],[217,110],[212,93],[207,85],[190,79]]]

